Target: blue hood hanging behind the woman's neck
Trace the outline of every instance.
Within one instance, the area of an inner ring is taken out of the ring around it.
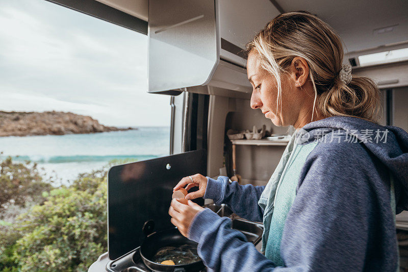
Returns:
[[[308,123],[297,132],[297,137],[306,144],[328,133],[332,133],[332,140],[346,134],[348,140],[364,144],[393,175],[397,213],[408,210],[408,133],[357,117],[333,116]]]

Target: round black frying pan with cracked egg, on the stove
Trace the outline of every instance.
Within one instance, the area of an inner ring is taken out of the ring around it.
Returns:
[[[146,224],[147,223],[148,222],[146,222]],[[145,229],[149,229],[148,225]],[[142,257],[143,263],[156,272],[195,272],[203,269],[205,266],[202,263],[202,260],[179,265],[165,265],[152,261],[153,256],[164,246],[180,246],[183,244],[197,246],[196,242],[181,235],[176,228],[154,232],[149,234],[142,242],[142,245],[140,246],[140,256]]]

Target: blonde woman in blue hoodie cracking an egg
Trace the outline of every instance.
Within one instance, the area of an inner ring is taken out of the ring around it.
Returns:
[[[296,133],[266,186],[194,175],[174,189],[263,221],[262,252],[231,220],[173,200],[171,222],[217,271],[396,271],[395,213],[408,207],[408,134],[375,122],[378,89],[342,65],[341,40],[307,12],[277,16],[247,45],[250,106]]]

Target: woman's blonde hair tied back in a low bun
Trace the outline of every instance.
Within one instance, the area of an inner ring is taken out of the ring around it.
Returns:
[[[276,80],[276,105],[281,105],[281,110],[281,73],[295,57],[301,57],[309,64],[315,91],[313,113],[316,107],[323,117],[343,115],[377,120],[377,85],[369,78],[354,75],[349,84],[340,80],[343,62],[341,39],[315,15],[298,11],[276,16],[246,45],[246,55],[252,51],[258,53],[261,67]]]

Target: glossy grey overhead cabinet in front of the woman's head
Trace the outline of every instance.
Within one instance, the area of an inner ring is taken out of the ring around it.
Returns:
[[[258,10],[267,12],[260,15]],[[250,94],[245,44],[256,34],[254,30],[261,30],[277,14],[265,0],[239,1],[239,5],[234,0],[151,0],[148,91]],[[250,23],[241,23],[248,16]],[[197,86],[206,88],[189,88]]]

